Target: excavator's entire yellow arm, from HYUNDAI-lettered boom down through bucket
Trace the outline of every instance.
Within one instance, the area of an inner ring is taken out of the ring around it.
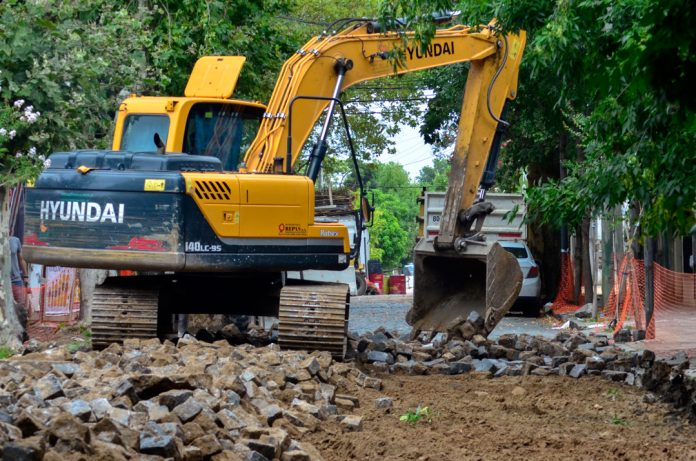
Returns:
[[[510,309],[522,285],[517,260],[480,234],[493,210],[485,202],[493,185],[507,101],[517,95],[524,31],[502,34],[495,20],[478,27],[436,31],[423,51],[403,50],[394,69],[389,55],[412,33],[381,33],[362,22],[309,41],[290,58],[278,77],[259,132],[245,155],[250,172],[292,172],[304,142],[322,112],[328,111],[313,146],[307,176],[316,180],[326,155],[326,135],[340,93],[366,80],[470,62],[440,233],[415,249],[413,307],[407,321],[413,333],[446,331],[487,335]],[[410,43],[410,40],[407,40]],[[289,118],[292,117],[292,123]],[[292,132],[290,132],[292,127]]]

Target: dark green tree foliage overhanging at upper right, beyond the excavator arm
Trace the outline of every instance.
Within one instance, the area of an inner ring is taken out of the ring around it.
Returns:
[[[543,168],[561,155],[567,168],[565,178],[529,189],[529,219],[572,228],[587,212],[630,201],[648,235],[688,230],[696,205],[696,12],[689,2],[441,3],[429,3],[430,11],[457,9],[469,24],[497,17],[507,31],[528,32],[501,179],[515,183],[520,168]],[[420,9],[402,10],[424,18]],[[433,83],[424,133],[445,144],[459,110],[447,82],[463,82],[442,72],[452,78]]]

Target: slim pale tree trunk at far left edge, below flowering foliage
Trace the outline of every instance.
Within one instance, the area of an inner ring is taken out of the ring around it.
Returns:
[[[10,191],[0,186],[0,344],[18,349],[22,326],[14,309],[10,268]]]

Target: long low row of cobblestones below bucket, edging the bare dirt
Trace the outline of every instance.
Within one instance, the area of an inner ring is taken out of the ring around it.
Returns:
[[[562,330],[555,338],[505,334],[497,341],[471,339],[409,341],[384,329],[350,339],[355,359],[382,373],[410,375],[469,373],[478,378],[560,375],[579,379],[602,376],[650,391],[646,400],[661,399],[696,421],[696,369],[680,353],[656,359],[650,350],[626,350],[602,334]]]

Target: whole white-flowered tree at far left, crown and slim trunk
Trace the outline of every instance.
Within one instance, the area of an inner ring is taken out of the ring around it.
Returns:
[[[128,31],[128,33],[124,33]],[[9,188],[60,147],[104,147],[116,101],[142,76],[138,18],[107,0],[0,3],[0,342],[20,326],[10,291]]]

